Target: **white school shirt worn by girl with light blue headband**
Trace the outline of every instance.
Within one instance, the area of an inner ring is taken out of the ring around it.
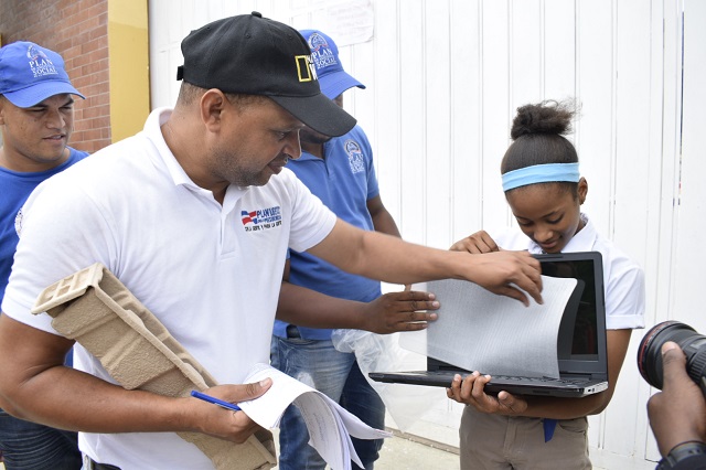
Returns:
[[[596,226],[586,214],[581,214],[581,218],[586,225],[561,252],[600,252],[602,255],[608,330],[644,328],[645,287],[642,268],[610,239],[596,232]],[[520,228],[510,229],[498,237],[490,235],[501,248],[526,249],[534,255],[543,253],[542,247]]]

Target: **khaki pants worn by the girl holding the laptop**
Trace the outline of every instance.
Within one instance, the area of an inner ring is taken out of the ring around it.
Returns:
[[[488,415],[467,406],[459,435],[461,470],[584,470],[588,458],[588,420],[563,419],[544,441],[539,418]]]

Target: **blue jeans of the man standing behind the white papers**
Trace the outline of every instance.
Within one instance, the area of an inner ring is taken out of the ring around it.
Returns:
[[[272,337],[270,361],[272,367],[327,394],[366,425],[385,428],[385,405],[361,373],[355,354],[336,351],[331,341]],[[383,439],[352,440],[365,469],[372,470]],[[308,442],[307,426],[291,405],[279,427],[279,469],[323,470],[325,462]],[[360,467],[353,463],[353,468]]]

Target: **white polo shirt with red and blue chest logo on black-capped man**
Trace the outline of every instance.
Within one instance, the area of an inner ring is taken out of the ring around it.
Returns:
[[[229,186],[218,204],[167,147],[170,113],[156,109],[142,132],[31,195],[2,311],[55,333],[47,314],[30,313],[38,295],[99,261],[220,383],[239,384],[269,361],[287,247],[314,246],[335,216],[287,169],[264,186]],[[81,345],[74,366],[114,382]],[[122,470],[213,468],[173,432],[81,432],[79,447]]]

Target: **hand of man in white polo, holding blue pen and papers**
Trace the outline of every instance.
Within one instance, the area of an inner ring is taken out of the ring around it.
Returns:
[[[272,385],[271,378],[259,383],[243,385],[217,385],[205,393],[225,402],[237,404],[261,396]],[[197,398],[184,398],[188,416],[197,417],[196,429],[200,432],[236,444],[245,442],[250,435],[260,429],[243,412],[232,412]]]

